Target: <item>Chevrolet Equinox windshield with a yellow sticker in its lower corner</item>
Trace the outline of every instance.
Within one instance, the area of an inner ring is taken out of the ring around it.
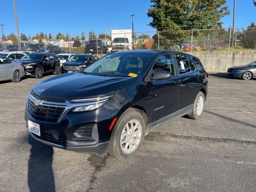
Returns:
[[[147,68],[153,54],[118,53],[105,56],[85,68],[85,74],[135,77]]]

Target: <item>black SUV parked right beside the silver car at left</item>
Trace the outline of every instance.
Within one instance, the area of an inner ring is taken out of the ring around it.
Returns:
[[[55,75],[60,74],[60,60],[58,60],[56,54],[29,53],[17,62],[24,64],[27,76],[42,78],[43,74],[48,72],[54,72]]]

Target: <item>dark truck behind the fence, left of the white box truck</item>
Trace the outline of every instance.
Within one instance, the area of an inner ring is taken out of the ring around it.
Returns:
[[[90,40],[85,46],[84,46],[84,54],[87,53],[97,53],[98,49],[98,54],[107,54],[108,48],[106,44],[102,40]]]

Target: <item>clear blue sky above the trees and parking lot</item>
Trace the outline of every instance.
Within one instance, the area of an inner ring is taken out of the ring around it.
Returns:
[[[236,1],[236,26],[248,26],[256,22],[256,7],[252,0]],[[0,24],[5,24],[4,33],[16,33],[12,0],[1,0]],[[233,0],[228,0],[230,15],[222,21],[224,27],[232,25]],[[152,30],[146,15],[150,0],[16,0],[20,33],[36,32],[80,32],[93,29],[104,32],[112,26],[117,29],[131,28],[131,14],[134,16],[134,31]],[[1,32],[0,32],[1,33]]]

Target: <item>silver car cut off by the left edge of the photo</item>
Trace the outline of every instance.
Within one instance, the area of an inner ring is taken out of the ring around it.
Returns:
[[[25,71],[21,63],[0,56],[0,81],[19,82],[23,76],[25,76]]]

